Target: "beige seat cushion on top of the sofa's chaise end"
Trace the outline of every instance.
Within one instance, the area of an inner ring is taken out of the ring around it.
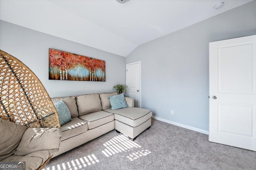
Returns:
[[[116,110],[112,110],[109,108],[105,109],[104,111],[114,113],[114,117],[116,120],[132,127],[137,127],[138,125],[141,125],[142,123],[150,119],[150,117],[152,117],[151,110],[138,107],[126,107]]]

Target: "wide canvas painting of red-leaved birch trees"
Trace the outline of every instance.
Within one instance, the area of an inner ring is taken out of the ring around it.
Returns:
[[[105,82],[105,61],[49,49],[49,79]]]

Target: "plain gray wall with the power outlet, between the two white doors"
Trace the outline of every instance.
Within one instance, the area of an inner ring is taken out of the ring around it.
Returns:
[[[252,1],[137,47],[126,63],[141,61],[142,107],[208,131],[208,44],[256,34],[255,9]]]

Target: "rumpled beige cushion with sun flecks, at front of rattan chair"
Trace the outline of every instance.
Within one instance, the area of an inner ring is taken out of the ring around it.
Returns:
[[[29,127],[24,132],[14,155],[27,155],[39,150],[60,148],[60,129]]]

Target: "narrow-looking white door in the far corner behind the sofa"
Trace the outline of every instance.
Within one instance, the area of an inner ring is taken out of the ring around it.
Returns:
[[[126,96],[134,98],[134,106],[141,107],[140,61],[126,64]]]

